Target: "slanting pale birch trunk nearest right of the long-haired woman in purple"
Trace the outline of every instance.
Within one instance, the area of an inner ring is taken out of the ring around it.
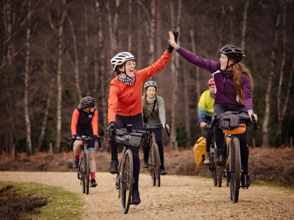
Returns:
[[[277,21],[275,24],[275,38],[274,38],[274,44],[273,49],[271,52],[271,62],[270,62],[270,77],[268,81],[268,87],[265,93],[265,112],[264,112],[264,123],[262,125],[262,131],[263,131],[263,140],[262,140],[262,146],[264,148],[269,146],[269,122],[270,122],[270,95],[271,95],[271,86],[272,86],[272,80],[275,72],[275,49],[278,42],[278,27],[280,24],[280,17],[281,17],[281,7],[279,8],[278,15],[277,15]]]

